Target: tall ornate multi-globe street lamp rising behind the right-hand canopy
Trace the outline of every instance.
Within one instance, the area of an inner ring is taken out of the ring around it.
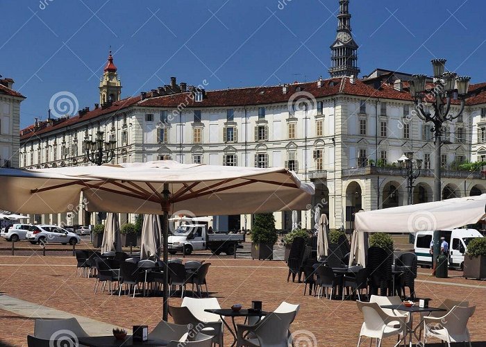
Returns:
[[[410,81],[410,94],[414,99],[414,109],[420,119],[432,123],[430,131],[434,133],[435,142],[435,160],[434,160],[434,201],[441,200],[441,138],[444,134],[443,124],[446,121],[452,121],[462,115],[464,111],[464,104],[469,90],[470,77],[458,77],[454,72],[444,71],[446,65],[445,59],[432,60],[432,67],[434,72],[433,85],[426,85],[426,75],[413,75]],[[457,114],[449,114],[451,110],[451,100],[453,95],[457,92],[460,100],[460,110]],[[431,103],[434,109],[433,114],[426,111],[424,102]],[[433,247],[433,265],[439,255],[439,232],[434,232],[434,247]],[[434,267],[435,268],[435,267]]]

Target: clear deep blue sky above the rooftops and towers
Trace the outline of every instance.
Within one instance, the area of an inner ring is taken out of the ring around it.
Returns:
[[[440,6],[437,6],[440,3]],[[328,76],[337,0],[0,0],[0,74],[27,96],[21,127],[71,92],[99,102],[108,46],[122,96],[169,83],[208,90]],[[483,0],[351,0],[361,76],[376,67],[430,74],[430,59],[486,81]]]

